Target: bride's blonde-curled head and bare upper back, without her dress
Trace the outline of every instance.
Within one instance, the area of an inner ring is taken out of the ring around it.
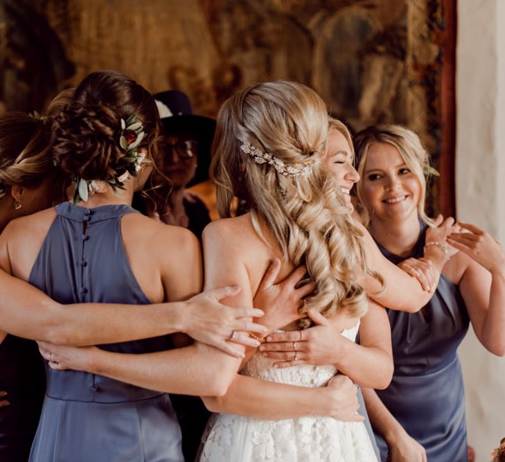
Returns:
[[[351,318],[366,310],[360,231],[321,162],[327,132],[324,102],[294,82],[251,85],[220,109],[211,165],[218,209],[229,217],[233,195],[251,206],[204,233],[206,285],[241,285],[231,303],[250,302],[267,265],[281,258],[280,278],[305,265],[316,285],[305,310]]]

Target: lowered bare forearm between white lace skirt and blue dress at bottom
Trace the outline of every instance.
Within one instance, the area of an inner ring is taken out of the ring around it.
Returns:
[[[426,462],[424,447],[405,432],[375,390],[363,388],[362,393],[373,429],[382,435],[389,447],[391,462]]]

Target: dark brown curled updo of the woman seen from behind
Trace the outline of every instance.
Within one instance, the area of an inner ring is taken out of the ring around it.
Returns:
[[[82,179],[111,179],[125,151],[119,145],[121,118],[136,114],[145,143],[156,158],[159,116],[152,96],[114,71],[94,72],[76,88],[54,120],[53,156],[62,170]]]

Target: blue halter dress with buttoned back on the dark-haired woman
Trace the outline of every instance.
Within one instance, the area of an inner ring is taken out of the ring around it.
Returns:
[[[29,282],[60,303],[150,303],[121,238],[129,206],[56,206]],[[69,308],[71,309],[71,308]],[[139,306],[139,310],[142,307]],[[104,328],[107,328],[104,326]],[[100,346],[118,353],[166,350],[168,337]],[[53,371],[30,462],[181,462],[181,432],[166,393],[80,371]]]

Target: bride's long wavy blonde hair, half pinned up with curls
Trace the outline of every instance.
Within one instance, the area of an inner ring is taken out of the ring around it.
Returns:
[[[285,259],[294,266],[306,265],[316,290],[302,312],[315,308],[333,317],[343,310],[360,317],[368,306],[358,283],[366,273],[362,233],[321,162],[327,136],[326,105],[312,89],[286,81],[250,85],[220,109],[211,178],[222,217],[231,216],[234,195],[247,199],[260,237],[261,220]],[[242,152],[242,143],[287,166],[312,166],[312,172],[308,177],[282,175]],[[309,325],[302,320],[302,327]]]

